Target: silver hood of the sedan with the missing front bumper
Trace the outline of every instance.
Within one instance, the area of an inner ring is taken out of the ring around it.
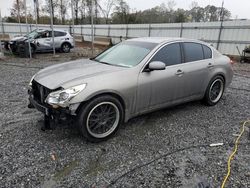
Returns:
[[[86,83],[86,79],[126,69],[102,64],[89,59],[79,59],[49,66],[39,71],[34,80],[49,89],[68,88]]]

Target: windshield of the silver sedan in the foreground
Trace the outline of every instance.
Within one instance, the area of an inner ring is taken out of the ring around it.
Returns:
[[[125,41],[98,55],[94,60],[115,66],[134,67],[156,46],[156,43]]]

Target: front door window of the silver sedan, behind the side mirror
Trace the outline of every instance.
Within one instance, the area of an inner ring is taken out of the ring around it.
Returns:
[[[151,59],[152,61],[161,61],[166,66],[181,63],[181,48],[179,43],[169,44],[160,49],[159,52]]]

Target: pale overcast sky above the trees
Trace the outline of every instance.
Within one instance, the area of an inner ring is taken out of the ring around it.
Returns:
[[[27,6],[33,7],[33,0],[26,0]],[[100,0],[102,1],[102,0]],[[168,0],[125,0],[133,10],[145,10],[153,8],[161,3],[167,4]],[[222,0],[195,0],[198,5],[205,7],[206,5],[221,6]],[[231,11],[232,18],[250,19],[250,0],[224,0],[224,7]],[[0,0],[0,10],[2,16],[8,16],[10,8],[14,0]],[[175,0],[174,9],[183,8],[190,9],[192,0]]]

